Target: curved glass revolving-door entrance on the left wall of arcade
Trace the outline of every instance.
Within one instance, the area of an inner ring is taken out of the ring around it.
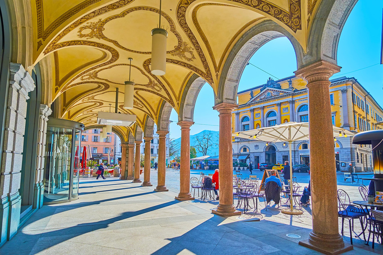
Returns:
[[[84,125],[81,123],[49,119],[45,146],[44,204],[78,198],[82,130]]]

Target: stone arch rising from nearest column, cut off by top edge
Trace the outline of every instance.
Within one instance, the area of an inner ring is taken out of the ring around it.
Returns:
[[[324,60],[337,64],[338,43],[348,16],[358,0],[319,2],[307,41],[303,66]],[[299,68],[298,68],[299,69]]]

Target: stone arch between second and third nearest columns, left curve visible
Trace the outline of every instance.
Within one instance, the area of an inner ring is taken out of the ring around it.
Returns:
[[[181,98],[180,114],[178,115],[178,121],[192,122],[194,119],[194,107],[199,91],[206,83],[201,77],[193,74],[186,84],[184,94]]]

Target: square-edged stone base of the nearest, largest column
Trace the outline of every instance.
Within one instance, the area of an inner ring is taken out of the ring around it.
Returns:
[[[354,249],[352,245],[346,244],[339,234],[323,235],[314,232],[310,233],[308,240],[300,241],[299,245],[328,255],[338,255]]]

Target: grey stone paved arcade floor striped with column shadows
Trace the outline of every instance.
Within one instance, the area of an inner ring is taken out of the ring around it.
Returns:
[[[116,177],[81,178],[78,200],[43,206],[1,247],[0,254],[319,254],[298,245],[311,229],[310,207],[301,216],[287,216],[281,208],[266,211],[259,203],[261,213],[226,219],[210,213],[217,201],[174,200],[178,171],[167,171],[169,192],[154,192],[156,175],[152,170],[153,187]],[[383,254],[379,244],[372,250],[354,239],[354,245],[355,250],[347,254]]]

